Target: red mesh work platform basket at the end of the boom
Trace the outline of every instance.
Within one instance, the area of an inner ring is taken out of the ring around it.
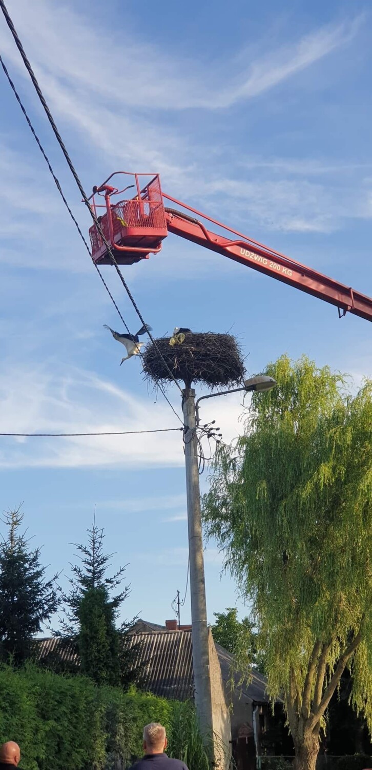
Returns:
[[[132,177],[134,184],[124,189],[108,185],[108,181],[117,174]],[[144,186],[143,182],[146,182]],[[111,202],[112,196],[121,195],[131,188],[135,188],[135,196],[120,200],[118,203]],[[95,196],[105,197],[105,204],[97,203]],[[115,171],[103,184],[93,188],[90,199],[102,233],[111,246],[118,264],[132,265],[140,259],[148,259],[151,253],[156,254],[161,250],[161,241],[168,235],[168,229],[158,174],[150,176]],[[105,209],[106,213],[100,213],[99,209]],[[91,256],[95,263],[111,265],[111,256],[96,225],[89,229],[89,237]]]

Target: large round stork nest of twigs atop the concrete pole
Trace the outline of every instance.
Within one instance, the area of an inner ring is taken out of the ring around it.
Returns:
[[[162,384],[183,380],[185,387],[240,385],[244,378],[241,349],[232,334],[191,333],[181,344],[170,346],[171,337],[154,340],[144,350],[142,363],[148,380]],[[167,368],[168,367],[168,368]]]

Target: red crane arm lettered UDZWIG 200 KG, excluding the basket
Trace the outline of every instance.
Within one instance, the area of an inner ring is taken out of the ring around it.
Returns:
[[[184,203],[176,201],[171,196],[167,196],[164,193],[163,196],[199,214],[195,209],[185,206]],[[230,230],[230,232],[236,233],[236,231],[231,231],[230,228],[226,228],[221,223],[211,219],[211,217],[206,217],[204,214],[200,214],[200,216],[204,219],[209,219],[218,226],[224,227],[224,229]],[[192,243],[198,243],[199,246],[204,246],[207,249],[211,249],[211,251],[228,256],[234,262],[253,267],[259,273],[265,273],[265,275],[272,276],[307,294],[317,296],[319,300],[335,305],[340,316],[344,316],[346,313],[354,313],[354,315],[360,316],[360,318],[372,321],[372,299],[355,291],[350,286],[344,286],[343,283],[324,276],[322,273],[318,273],[317,270],[302,265],[300,262],[274,251],[274,249],[257,243],[257,241],[244,238],[244,236],[241,236],[241,233],[238,233],[238,238],[233,239],[213,233],[199,219],[188,216],[188,214],[184,214],[177,209],[165,208],[165,218],[169,233],[181,236],[181,238],[192,241]]]

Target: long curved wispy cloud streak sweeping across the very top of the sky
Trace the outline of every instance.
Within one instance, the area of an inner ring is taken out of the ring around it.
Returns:
[[[261,94],[347,45],[363,18],[359,15],[317,28],[251,60],[241,72],[236,72],[236,59],[223,66],[211,62],[209,70],[203,65],[201,76],[201,62],[174,59],[148,40],[139,39],[131,29],[121,29],[118,45],[112,31],[108,34],[101,25],[92,25],[91,18],[89,24],[65,5],[46,0],[35,0],[32,7],[25,0],[17,4],[13,0],[9,5],[38,74],[44,82],[45,76],[49,78],[48,89],[59,82],[73,86],[75,94],[83,96],[88,89],[96,99],[113,99],[117,106],[158,109],[161,105],[171,110],[230,107]],[[17,62],[8,35],[2,34],[2,45]],[[105,56],[98,57],[98,50],[105,51]],[[240,59],[251,56],[247,49]],[[125,73],[131,88],[123,88],[123,79],[113,75],[118,72]]]

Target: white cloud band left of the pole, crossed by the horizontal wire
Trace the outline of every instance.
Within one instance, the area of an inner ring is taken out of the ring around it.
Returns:
[[[175,424],[167,405],[149,409],[93,373],[39,367],[9,368],[0,376],[3,433],[85,433],[153,430]],[[1,439],[0,468],[174,467],[183,464],[180,434]]]

